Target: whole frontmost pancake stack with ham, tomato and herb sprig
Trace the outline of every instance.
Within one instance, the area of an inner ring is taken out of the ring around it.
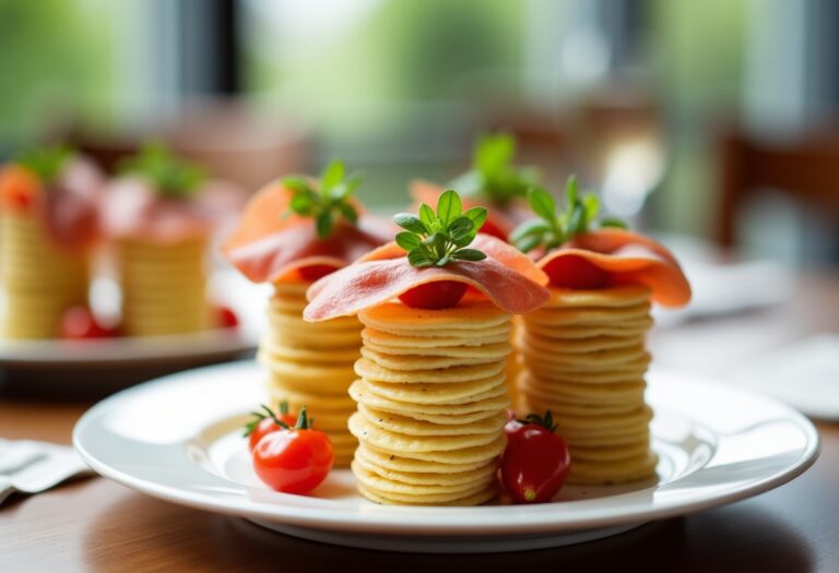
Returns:
[[[394,218],[407,229],[397,244],[316,283],[304,317],[357,313],[365,325],[351,389],[358,491],[378,503],[475,505],[497,492],[511,312],[533,310],[547,291],[532,263],[498,239],[468,248],[483,207],[462,213],[447,191],[436,214],[420,213]]]

